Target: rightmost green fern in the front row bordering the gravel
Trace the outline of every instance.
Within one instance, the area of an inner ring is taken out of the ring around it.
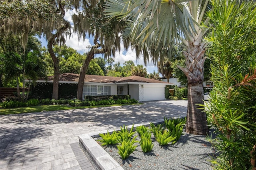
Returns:
[[[170,135],[170,133],[168,132],[167,129],[164,130],[164,132],[158,131],[156,132],[156,141],[158,141],[158,143],[160,145],[167,145],[168,143],[172,142],[172,144],[174,144],[176,141],[176,136],[173,137],[172,135]]]

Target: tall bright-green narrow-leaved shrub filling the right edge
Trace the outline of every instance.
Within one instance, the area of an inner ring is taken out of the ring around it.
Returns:
[[[256,146],[256,4],[212,0],[208,57],[214,88],[206,103],[210,138],[219,156],[214,169],[254,169]]]

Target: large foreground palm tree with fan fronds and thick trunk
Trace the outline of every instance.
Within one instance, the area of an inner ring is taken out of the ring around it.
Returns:
[[[124,40],[130,41],[137,57],[149,55],[153,61],[170,58],[174,44],[184,46],[186,68],[179,67],[188,79],[188,111],[186,132],[203,134],[208,132],[206,114],[198,109],[203,104],[204,48],[202,42],[206,30],[200,25],[208,24],[204,17],[208,0],[158,0],[106,2],[105,12],[110,18],[125,22]],[[142,52],[141,52],[142,51]]]

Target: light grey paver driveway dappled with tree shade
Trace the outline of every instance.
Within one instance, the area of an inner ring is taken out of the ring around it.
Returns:
[[[187,101],[74,109],[0,116],[1,170],[93,169],[78,135],[120,126],[184,117]]]

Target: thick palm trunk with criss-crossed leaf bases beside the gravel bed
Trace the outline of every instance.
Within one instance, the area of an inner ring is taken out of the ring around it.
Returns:
[[[196,135],[206,135],[209,132],[206,113],[200,106],[204,105],[204,47],[205,44],[190,45],[187,51],[183,51],[186,57],[186,68],[180,68],[188,79],[188,111],[186,132]]]

